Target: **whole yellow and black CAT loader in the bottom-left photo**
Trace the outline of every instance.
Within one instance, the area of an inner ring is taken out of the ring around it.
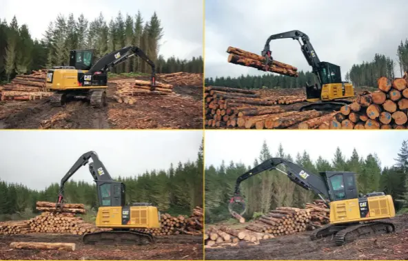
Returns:
[[[89,160],[92,159],[90,163]],[[64,185],[82,166],[89,170],[96,182],[99,208],[96,215],[96,227],[112,229],[86,233],[82,240],[85,244],[150,244],[154,238],[150,233],[131,231],[130,229],[155,229],[160,227],[160,212],[149,203],[125,205],[125,184],[112,180],[108,170],[96,152],[87,152],[76,160],[70,170],[61,179],[56,204],[57,212],[63,209]]]

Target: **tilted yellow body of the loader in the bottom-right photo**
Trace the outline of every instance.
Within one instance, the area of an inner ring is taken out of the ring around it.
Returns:
[[[394,203],[390,195],[330,202],[331,224],[379,220],[394,216]]]

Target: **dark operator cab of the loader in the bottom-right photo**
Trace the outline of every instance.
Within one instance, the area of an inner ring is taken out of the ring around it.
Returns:
[[[327,182],[331,201],[358,198],[354,172],[325,171],[320,175]]]

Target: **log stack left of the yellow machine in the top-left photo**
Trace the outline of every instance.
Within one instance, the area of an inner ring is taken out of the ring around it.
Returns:
[[[47,70],[32,71],[30,75],[17,75],[0,86],[1,101],[32,101],[51,96],[45,86]]]

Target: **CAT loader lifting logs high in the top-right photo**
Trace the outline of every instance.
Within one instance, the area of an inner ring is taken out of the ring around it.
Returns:
[[[312,66],[312,72],[316,75],[317,83],[309,85],[306,83],[306,98],[310,104],[300,108],[300,111],[316,110],[340,110],[343,105],[350,104],[351,101],[343,100],[355,96],[354,87],[351,83],[342,81],[340,66],[333,63],[320,61],[307,34],[298,30],[273,34],[269,36],[261,55],[265,57],[264,70],[272,66],[272,51],[269,43],[276,39],[292,38],[300,44],[300,49],[305,56],[307,63]],[[302,42],[300,42],[300,40]]]

